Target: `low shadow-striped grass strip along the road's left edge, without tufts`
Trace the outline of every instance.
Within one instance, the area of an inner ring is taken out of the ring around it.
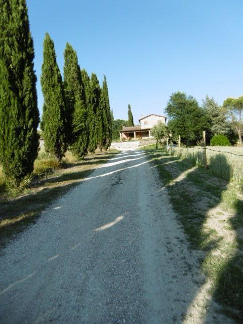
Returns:
[[[28,225],[34,224],[53,200],[61,197],[94,169],[106,163],[116,153],[98,153],[84,160],[66,163],[63,169],[32,181],[25,193],[15,198],[0,199],[0,247]]]

